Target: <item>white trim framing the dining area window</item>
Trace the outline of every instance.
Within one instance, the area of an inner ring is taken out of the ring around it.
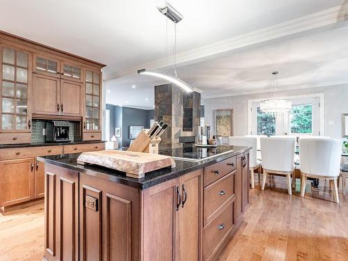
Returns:
[[[325,136],[325,110],[324,110],[324,93],[313,93],[313,94],[305,94],[305,95],[292,95],[292,96],[277,96],[279,99],[303,99],[303,98],[319,98],[319,133],[320,136]],[[267,97],[261,98],[261,99],[252,99],[248,100],[248,134],[252,133],[252,126],[253,122],[252,120],[252,106],[254,102],[261,102],[263,100],[267,99]]]

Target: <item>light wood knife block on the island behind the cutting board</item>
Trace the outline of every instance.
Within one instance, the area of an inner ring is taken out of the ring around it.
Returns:
[[[161,138],[150,139],[148,134],[146,134],[146,132],[142,130],[136,137],[134,142],[129,146],[127,151],[158,154],[160,142]]]

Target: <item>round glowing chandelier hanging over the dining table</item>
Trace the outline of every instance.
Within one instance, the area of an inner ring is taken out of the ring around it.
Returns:
[[[273,99],[260,102],[260,110],[264,113],[285,113],[292,109],[291,100],[278,99],[276,97],[276,86],[278,85],[278,72],[272,72]]]

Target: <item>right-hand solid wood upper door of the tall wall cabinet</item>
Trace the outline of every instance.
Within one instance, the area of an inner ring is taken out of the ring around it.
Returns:
[[[61,115],[82,116],[82,84],[61,81]]]

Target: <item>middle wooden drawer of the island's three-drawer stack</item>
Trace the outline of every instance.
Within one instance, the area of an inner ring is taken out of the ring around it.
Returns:
[[[209,223],[214,214],[219,212],[224,203],[234,194],[233,179],[230,173],[204,188],[204,222]]]

